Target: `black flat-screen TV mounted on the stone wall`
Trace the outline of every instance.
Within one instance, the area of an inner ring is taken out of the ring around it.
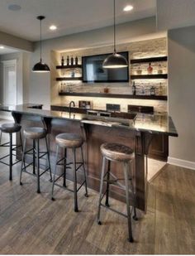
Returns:
[[[128,51],[119,52],[128,60]],[[117,83],[129,81],[129,67],[120,69],[104,69],[103,60],[111,54],[82,57],[83,82],[87,83]]]

